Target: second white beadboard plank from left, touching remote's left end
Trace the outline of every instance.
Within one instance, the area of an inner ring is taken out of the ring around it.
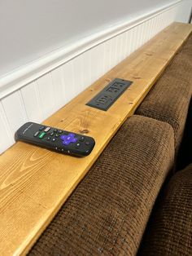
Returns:
[[[6,98],[3,98],[2,108],[6,113],[11,135],[12,138],[14,138],[15,131],[18,130],[26,121],[28,121],[20,90],[15,91]]]

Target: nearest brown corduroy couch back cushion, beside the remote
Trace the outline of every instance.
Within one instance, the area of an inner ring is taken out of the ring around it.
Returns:
[[[172,126],[130,117],[29,255],[135,255],[173,159]]]

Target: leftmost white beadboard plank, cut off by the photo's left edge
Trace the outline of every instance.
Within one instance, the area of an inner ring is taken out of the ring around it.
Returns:
[[[0,154],[4,152],[7,148],[11,147],[14,143],[14,139],[11,135],[11,130],[9,128],[7,117],[4,113],[4,109],[2,108],[2,104],[0,102]]]

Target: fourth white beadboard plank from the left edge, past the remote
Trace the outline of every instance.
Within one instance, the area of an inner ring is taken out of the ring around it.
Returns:
[[[50,73],[47,73],[37,80],[37,90],[39,93],[42,116],[45,120],[57,110],[55,104],[55,89]]]

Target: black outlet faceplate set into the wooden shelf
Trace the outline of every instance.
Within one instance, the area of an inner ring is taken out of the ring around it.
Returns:
[[[105,86],[105,88],[86,105],[107,111],[132,83],[131,81],[116,78]]]

